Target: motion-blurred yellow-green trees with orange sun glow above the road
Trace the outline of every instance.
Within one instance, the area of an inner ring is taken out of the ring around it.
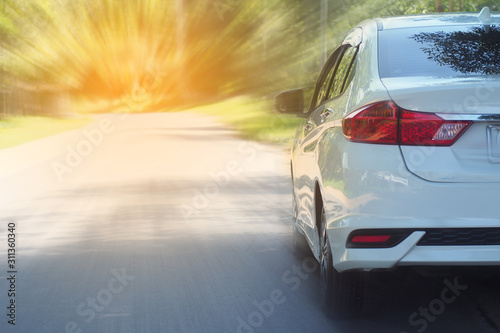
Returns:
[[[2,0],[2,84],[145,111],[314,84],[320,0]],[[331,0],[328,49],[375,16],[499,10],[485,0]]]

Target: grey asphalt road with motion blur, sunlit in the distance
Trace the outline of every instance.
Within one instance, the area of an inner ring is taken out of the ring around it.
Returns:
[[[391,275],[361,318],[327,319],[292,255],[288,170],[194,113],[1,150],[0,332],[500,331],[499,278]]]

